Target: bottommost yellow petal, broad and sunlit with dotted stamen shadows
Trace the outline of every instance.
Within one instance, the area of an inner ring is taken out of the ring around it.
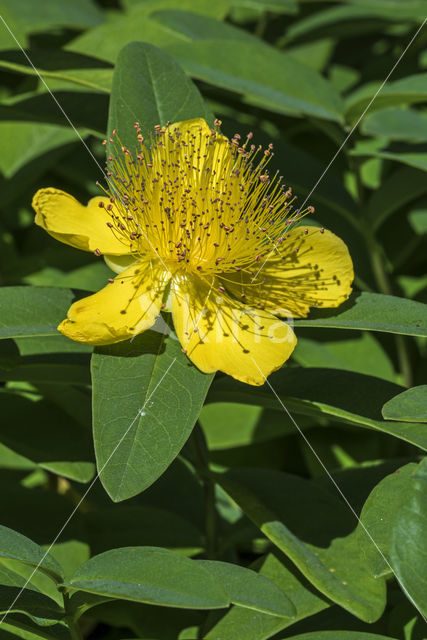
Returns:
[[[172,282],[172,314],[187,356],[204,373],[220,370],[253,385],[291,355],[292,329],[267,311],[250,309],[200,278]]]

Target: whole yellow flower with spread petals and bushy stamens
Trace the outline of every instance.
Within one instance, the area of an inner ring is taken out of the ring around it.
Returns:
[[[298,222],[292,194],[262,151],[230,141],[202,119],[155,127],[150,145],[138,124],[135,153],[110,138],[108,190],[86,207],[41,189],[36,223],[54,238],[103,255],[119,275],[75,302],[59,331],[106,345],[172,312],[184,353],[203,372],[259,385],[291,355],[296,337],[280,317],[348,298],[353,266],[333,233]]]

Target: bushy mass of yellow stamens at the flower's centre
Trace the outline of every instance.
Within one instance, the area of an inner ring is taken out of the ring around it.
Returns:
[[[200,124],[203,123],[203,124]],[[135,153],[114,131],[109,139],[108,226],[136,256],[153,255],[171,272],[255,273],[279,254],[295,211],[290,189],[263,150],[209,129],[202,120],[155,127],[149,144],[135,124]]]

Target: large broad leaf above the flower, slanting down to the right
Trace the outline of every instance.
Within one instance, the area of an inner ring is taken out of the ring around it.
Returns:
[[[193,77],[245,96],[277,113],[341,121],[338,94],[318,73],[263,43],[209,40],[171,44],[166,50]]]

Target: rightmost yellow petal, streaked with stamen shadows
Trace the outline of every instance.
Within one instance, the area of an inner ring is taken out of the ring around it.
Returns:
[[[349,297],[354,279],[346,244],[319,227],[297,227],[278,245],[280,256],[259,263],[259,273],[239,272],[227,288],[246,304],[275,315],[305,317],[310,307],[338,307]],[[262,280],[258,285],[251,279]]]

